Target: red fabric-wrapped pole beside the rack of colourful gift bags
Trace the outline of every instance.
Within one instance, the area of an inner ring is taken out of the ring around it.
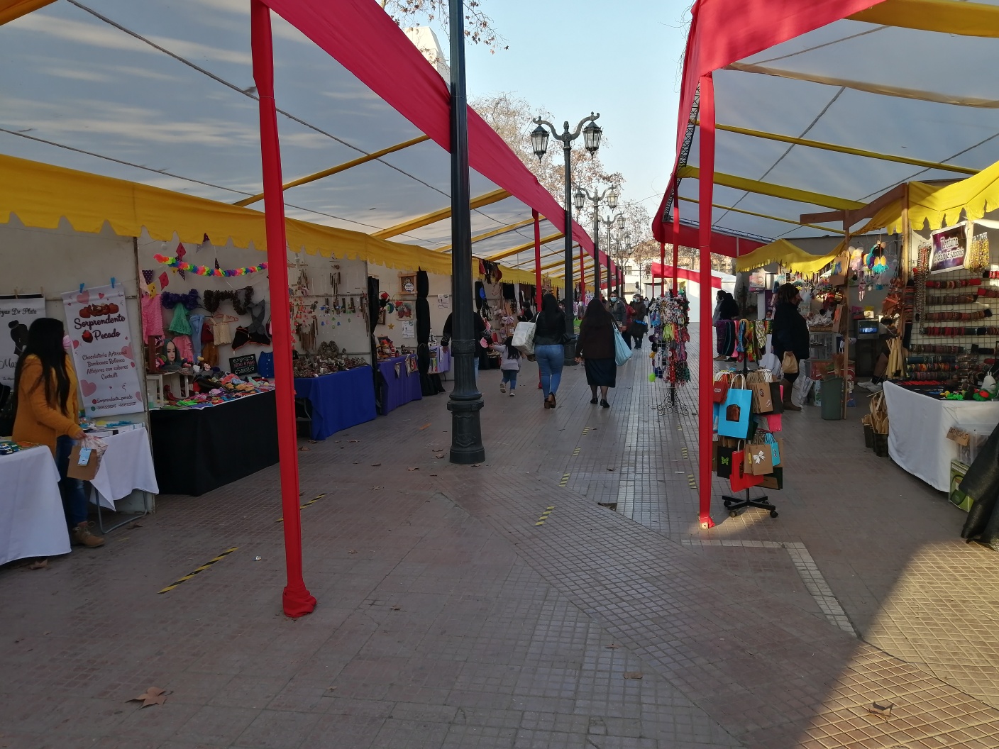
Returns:
[[[714,446],[711,428],[713,404],[711,402],[711,380],[714,364],[711,358],[711,344],[714,329],[711,326],[711,204],[714,194],[714,81],[711,75],[700,77],[700,179],[699,217],[700,228],[700,376],[697,382],[697,453],[698,481],[700,492],[700,526],[714,526],[711,520],[711,449]],[[675,207],[677,201],[673,201]],[[673,214],[673,227],[676,228],[679,214]],[[674,232],[676,239],[678,232]],[[673,245],[675,247],[675,244]],[[673,278],[675,279],[675,271]],[[675,281],[673,283],[676,283]]]

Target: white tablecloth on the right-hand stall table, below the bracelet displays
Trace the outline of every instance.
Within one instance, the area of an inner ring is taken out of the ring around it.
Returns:
[[[888,405],[888,454],[940,491],[950,490],[950,461],[957,442],[947,438],[951,426],[989,434],[999,424],[999,401],[938,400],[885,382]]]

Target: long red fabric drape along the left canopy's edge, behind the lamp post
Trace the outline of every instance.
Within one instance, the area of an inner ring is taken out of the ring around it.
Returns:
[[[378,3],[372,0],[262,2],[340,62],[422,133],[450,150],[448,85]],[[564,226],[562,208],[471,107],[469,166],[538,211],[552,225]],[[575,223],[572,238],[592,257],[593,243]]]

